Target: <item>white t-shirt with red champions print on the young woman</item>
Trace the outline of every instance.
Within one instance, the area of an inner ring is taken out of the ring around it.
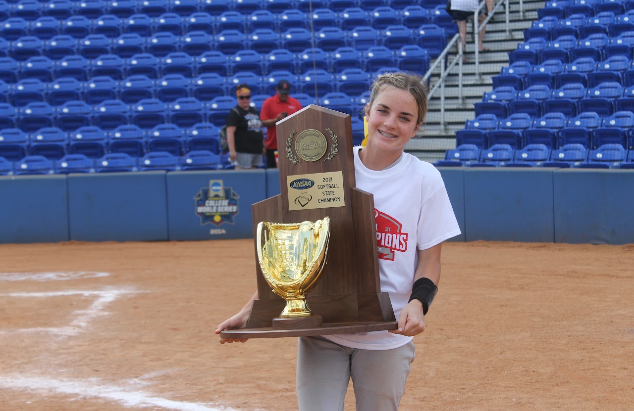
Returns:
[[[410,299],[418,250],[460,234],[443,179],[436,167],[403,153],[392,167],[366,168],[354,148],[356,187],[374,195],[378,269],[398,320]],[[337,344],[366,350],[391,350],[412,337],[387,331],[325,336]]]

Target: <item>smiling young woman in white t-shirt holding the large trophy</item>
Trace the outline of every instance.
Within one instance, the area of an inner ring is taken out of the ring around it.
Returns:
[[[415,354],[412,339],[425,330],[424,315],[437,291],[441,244],[460,234],[440,173],[403,152],[426,112],[422,77],[389,73],[373,83],[365,108],[368,139],[354,148],[354,168],[356,186],[374,196],[377,234],[393,230],[395,222],[406,234],[399,250],[379,253],[381,291],[389,292],[398,329],[299,338],[300,411],[342,411],[351,377],[357,410],[398,410]],[[257,293],[216,333],[242,326],[255,298]],[[220,342],[235,341],[245,340]]]

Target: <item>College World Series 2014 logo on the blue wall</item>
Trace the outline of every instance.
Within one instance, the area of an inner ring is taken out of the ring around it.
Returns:
[[[196,194],[196,215],[200,225],[224,223],[234,224],[233,217],[238,213],[238,194],[231,187],[224,187],[223,180],[209,180],[209,188],[202,188]],[[210,234],[224,234],[214,232]],[[224,231],[224,230],[223,230]]]

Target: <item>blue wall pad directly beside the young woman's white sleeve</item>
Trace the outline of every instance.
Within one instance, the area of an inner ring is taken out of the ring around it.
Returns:
[[[467,241],[555,241],[552,168],[464,173]]]

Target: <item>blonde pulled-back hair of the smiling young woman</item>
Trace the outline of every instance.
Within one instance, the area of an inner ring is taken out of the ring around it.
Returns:
[[[396,87],[400,90],[409,91],[418,106],[418,116],[416,123],[420,124],[425,120],[427,114],[427,85],[423,81],[423,77],[418,74],[396,72],[385,73],[379,75],[370,87],[370,101],[365,108],[365,115],[372,107],[378,93],[382,92],[385,87]]]

